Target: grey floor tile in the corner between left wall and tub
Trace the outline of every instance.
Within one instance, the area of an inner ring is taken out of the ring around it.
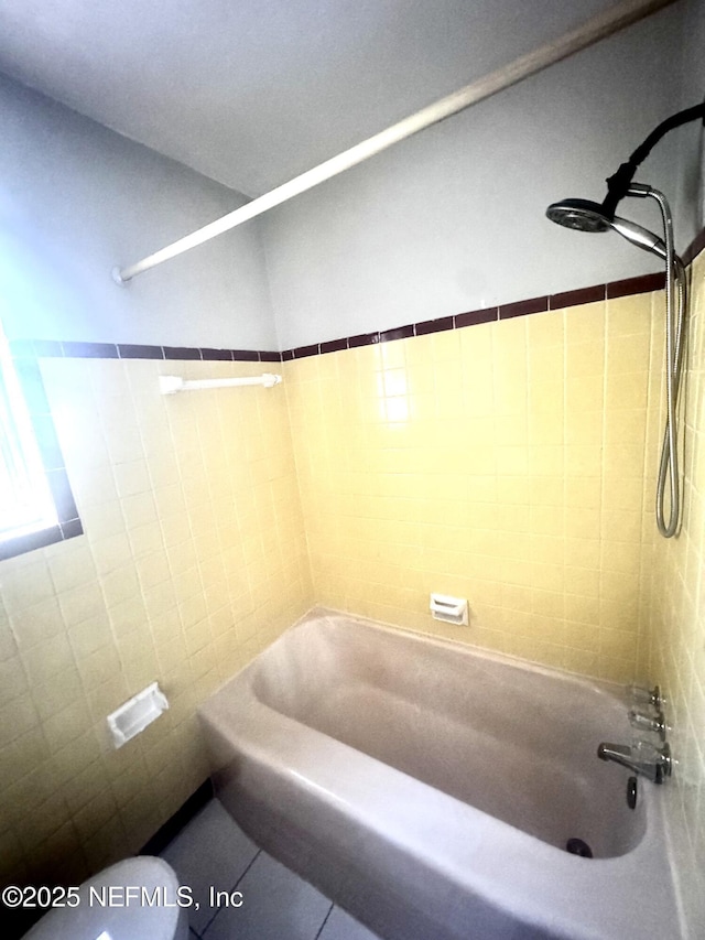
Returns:
[[[258,852],[218,800],[210,800],[162,852],[198,904],[188,908],[188,922],[197,933],[216,914],[210,889],[232,890]]]

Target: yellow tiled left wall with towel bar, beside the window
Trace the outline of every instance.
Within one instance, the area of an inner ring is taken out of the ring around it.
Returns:
[[[197,705],[313,596],[283,388],[158,391],[259,364],[41,365],[86,536],[0,563],[0,876],[76,884],[206,778]],[[116,750],[154,680],[170,710]]]

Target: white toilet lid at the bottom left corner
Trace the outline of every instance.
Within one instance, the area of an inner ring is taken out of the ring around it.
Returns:
[[[25,940],[174,940],[185,933],[178,879],[162,858],[118,862],[84,882],[79,896],[77,906],[45,914]]]

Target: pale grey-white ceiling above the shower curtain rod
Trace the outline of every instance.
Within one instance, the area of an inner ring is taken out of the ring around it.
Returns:
[[[2,0],[0,71],[256,196],[615,0]]]

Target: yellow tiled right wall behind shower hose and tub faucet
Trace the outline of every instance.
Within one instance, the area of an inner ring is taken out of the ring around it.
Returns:
[[[653,536],[647,550],[651,557],[642,592],[639,667],[642,680],[659,682],[669,698],[670,739],[679,760],[668,788],[672,845],[692,936],[698,937],[705,922],[705,253],[691,269],[690,311],[681,397],[683,525],[677,538]],[[662,311],[653,331],[660,359]],[[644,495],[649,510],[663,433],[661,371],[654,364]]]

